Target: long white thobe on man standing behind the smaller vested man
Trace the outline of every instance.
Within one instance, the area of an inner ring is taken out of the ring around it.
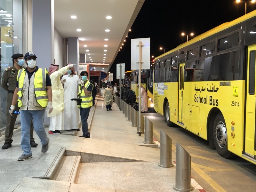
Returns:
[[[66,80],[66,81],[65,81]],[[76,101],[80,79],[77,75],[64,75],[61,83],[64,84],[64,129],[78,129],[79,108]]]

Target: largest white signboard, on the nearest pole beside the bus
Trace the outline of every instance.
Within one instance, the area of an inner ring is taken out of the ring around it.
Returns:
[[[142,42],[141,69],[150,68],[150,38],[131,39],[131,70],[139,69],[139,42]]]

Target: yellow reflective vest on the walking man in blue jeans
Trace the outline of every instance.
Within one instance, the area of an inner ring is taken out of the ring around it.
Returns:
[[[45,81],[46,81],[46,74],[48,73],[47,69],[44,68],[38,68],[37,71],[35,71],[34,74],[34,95],[36,102],[41,106],[41,107],[46,107],[48,103],[48,97],[47,97],[47,92],[46,92],[46,86],[45,86]],[[18,72],[17,76],[17,81],[19,84],[19,90],[18,90],[18,104],[19,107],[22,106],[22,92],[28,92],[28,90],[25,90],[23,88],[24,84],[24,79],[26,76],[26,71],[25,69],[20,69]],[[23,90],[22,90],[23,88]],[[31,89],[29,89],[31,90]],[[32,98],[29,98],[32,99]],[[34,98],[33,98],[34,99]]]

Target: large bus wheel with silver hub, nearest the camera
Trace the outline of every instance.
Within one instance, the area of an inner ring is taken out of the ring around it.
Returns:
[[[220,156],[227,159],[235,157],[235,154],[228,151],[228,134],[225,119],[221,112],[215,116],[213,122],[213,140]]]

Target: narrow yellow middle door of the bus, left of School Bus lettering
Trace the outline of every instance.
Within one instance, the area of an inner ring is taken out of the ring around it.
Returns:
[[[185,123],[184,118],[184,69],[185,69],[185,63],[179,64],[179,115],[178,115],[178,122],[183,124]]]

